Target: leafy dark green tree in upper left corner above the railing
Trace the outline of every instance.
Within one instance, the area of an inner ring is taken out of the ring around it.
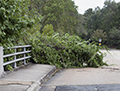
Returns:
[[[0,41],[32,26],[34,20],[28,16],[26,3],[24,0],[0,0]]]

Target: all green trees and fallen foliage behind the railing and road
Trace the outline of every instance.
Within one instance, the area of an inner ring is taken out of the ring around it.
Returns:
[[[72,0],[1,0],[0,46],[32,45],[33,62],[58,68],[107,65],[100,49],[119,48],[119,8],[107,0],[81,15]]]

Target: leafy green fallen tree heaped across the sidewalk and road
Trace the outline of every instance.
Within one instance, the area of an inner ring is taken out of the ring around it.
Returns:
[[[95,44],[87,44],[78,36],[39,35],[31,40],[33,60],[36,63],[56,65],[58,68],[99,67],[105,65],[103,53]]]

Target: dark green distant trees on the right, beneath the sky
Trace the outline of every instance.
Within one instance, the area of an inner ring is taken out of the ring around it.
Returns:
[[[120,2],[106,0],[102,9],[97,7],[92,10],[90,8],[85,11],[84,16],[84,26],[88,33],[87,36],[83,37],[84,39],[92,39],[95,36],[94,40],[98,41],[100,36],[103,38],[102,40],[106,39],[104,44],[112,47],[119,46],[119,41],[116,40],[115,36],[119,34],[116,29],[120,30]],[[104,32],[98,31],[97,33],[97,31],[94,32],[95,30],[104,30]]]

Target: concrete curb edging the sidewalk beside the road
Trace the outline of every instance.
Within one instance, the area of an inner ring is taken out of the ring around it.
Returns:
[[[38,91],[41,88],[42,84],[49,80],[55,74],[55,72],[56,66],[54,66],[52,70],[41,77],[40,81],[34,82],[32,85],[30,85],[26,91]]]

